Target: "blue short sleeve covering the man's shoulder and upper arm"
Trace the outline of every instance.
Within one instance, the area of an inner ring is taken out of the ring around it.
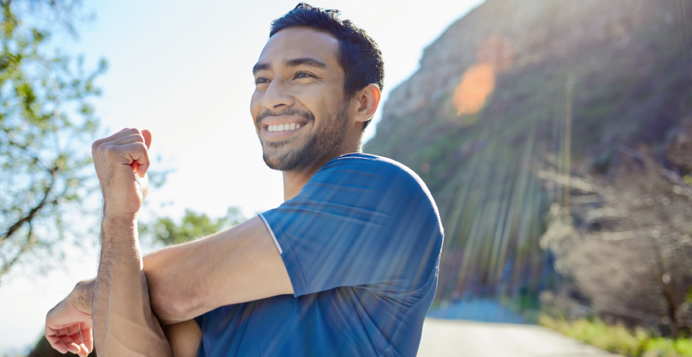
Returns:
[[[295,296],[381,283],[408,291],[437,273],[442,244],[437,207],[420,178],[395,161],[339,156],[298,196],[260,216]]]

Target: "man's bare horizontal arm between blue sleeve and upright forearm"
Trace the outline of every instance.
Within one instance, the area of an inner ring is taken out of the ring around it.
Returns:
[[[147,255],[144,271],[152,308],[163,324],[190,320],[219,306],[293,293],[260,217]]]

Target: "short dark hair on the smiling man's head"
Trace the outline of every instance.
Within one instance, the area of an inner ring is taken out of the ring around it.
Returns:
[[[339,18],[339,10],[313,8],[307,3],[299,3],[286,15],[271,21],[269,37],[284,28],[308,26],[324,30],[334,35],[339,42],[339,64],[344,71],[344,95],[351,98],[357,91],[370,83],[383,89],[385,64],[382,52],[376,42],[349,20]],[[370,120],[363,123],[363,130]]]

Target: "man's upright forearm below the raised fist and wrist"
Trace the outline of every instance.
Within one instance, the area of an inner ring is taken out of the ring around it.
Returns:
[[[101,236],[98,275],[91,284],[98,354],[171,356],[149,304],[136,220],[104,217]]]

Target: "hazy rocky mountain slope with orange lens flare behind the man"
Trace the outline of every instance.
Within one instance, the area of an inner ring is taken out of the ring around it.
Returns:
[[[486,0],[425,49],[365,152],[424,179],[445,228],[439,301],[536,295],[565,279],[540,248],[572,176],[664,147],[692,116],[685,0]],[[579,295],[578,293],[575,293]]]

